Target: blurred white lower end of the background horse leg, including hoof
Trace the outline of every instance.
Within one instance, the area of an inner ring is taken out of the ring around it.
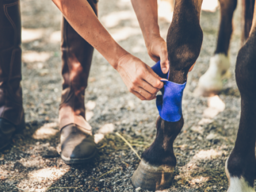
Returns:
[[[229,58],[225,54],[215,54],[210,59],[210,65],[206,73],[200,77],[196,95],[214,96],[222,89],[222,78],[230,67]]]

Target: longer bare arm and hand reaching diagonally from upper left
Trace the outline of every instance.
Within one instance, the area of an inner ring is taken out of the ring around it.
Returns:
[[[70,25],[115,68],[128,90],[142,100],[155,98],[163,83],[148,65],[114,41],[87,0],[52,0]]]

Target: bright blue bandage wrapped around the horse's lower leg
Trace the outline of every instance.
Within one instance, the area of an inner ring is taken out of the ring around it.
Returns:
[[[160,61],[151,67],[161,78],[168,79],[169,72],[164,74],[161,70]],[[157,95],[157,109],[162,119],[168,122],[177,122],[182,115],[182,96],[186,87],[184,84],[177,84],[171,81],[161,80],[164,84],[160,90],[162,95]]]

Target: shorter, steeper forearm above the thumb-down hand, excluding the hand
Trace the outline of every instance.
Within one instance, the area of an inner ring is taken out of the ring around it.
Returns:
[[[131,0],[140,23],[146,47],[152,39],[160,37],[157,22],[157,0]]]

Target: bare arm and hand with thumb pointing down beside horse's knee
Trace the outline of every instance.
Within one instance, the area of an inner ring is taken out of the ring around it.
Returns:
[[[157,0],[131,0],[140,23],[140,28],[148,49],[148,55],[154,60],[161,59],[163,73],[169,70],[166,42],[161,38],[157,22]]]

